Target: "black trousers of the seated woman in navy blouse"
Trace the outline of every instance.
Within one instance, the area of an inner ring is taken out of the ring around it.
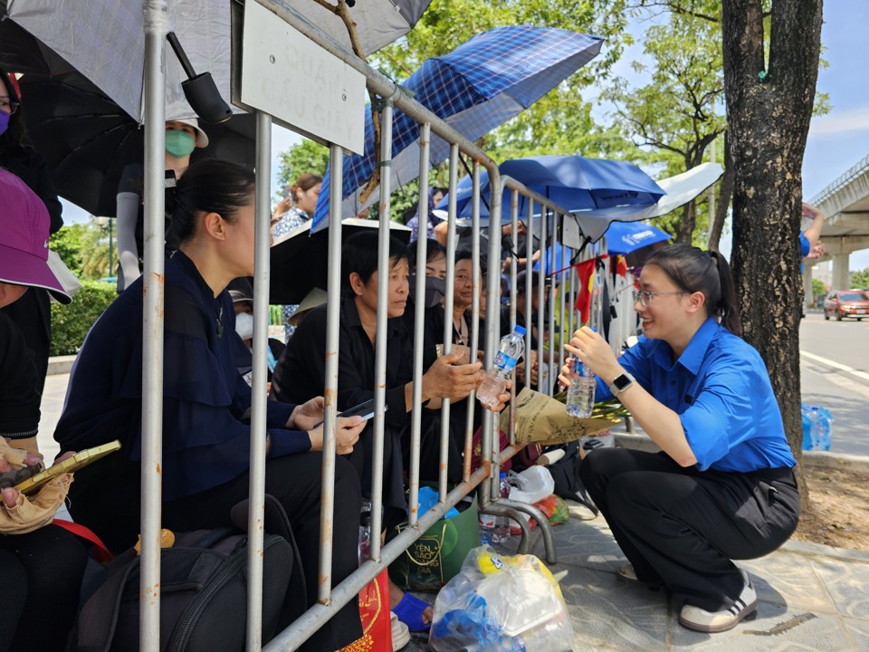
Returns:
[[[317,601],[320,559],[320,453],[286,455],[266,461],[265,493],[274,496],[290,519],[305,571],[308,606]],[[76,471],[70,491],[70,512],[100,535],[111,551],[136,542],[139,526],[139,465],[110,455]],[[248,497],[249,474],[199,494],[163,503],[163,527],[175,532],[232,527],[230,513]],[[74,491],[73,491],[74,487]],[[332,585],[358,569],[358,476],[349,462],[335,460],[335,512],[332,521]],[[352,599],[302,647],[336,650],[362,637],[358,600]]]

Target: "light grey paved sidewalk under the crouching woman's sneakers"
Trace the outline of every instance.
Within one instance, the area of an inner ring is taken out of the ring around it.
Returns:
[[[58,447],[67,374],[45,383],[39,444],[48,460]],[[832,457],[832,455],[830,455]],[[791,542],[759,560],[740,561],[759,596],[758,616],[730,632],[700,634],[681,627],[664,591],[616,580],[625,562],[606,523],[571,519],[554,529],[561,584],[575,634],[574,650],[866,650],[869,652],[869,553]],[[540,535],[533,551],[545,559]],[[517,543],[508,549],[515,550]],[[420,595],[434,601],[434,595]],[[406,652],[428,649],[415,637]]]

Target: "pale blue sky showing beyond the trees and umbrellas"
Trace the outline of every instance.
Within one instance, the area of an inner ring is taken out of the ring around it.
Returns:
[[[821,40],[823,57],[829,67],[818,73],[817,88],[830,94],[833,110],[812,120],[803,162],[804,197],[810,199],[869,156],[869,65],[865,60],[865,25],[869,24],[866,0],[832,0],[824,4]],[[640,25],[642,27],[642,25]],[[639,34],[636,34],[639,36]],[[635,47],[616,64],[617,72],[630,78],[629,62],[641,56]],[[589,97],[597,94],[589,90]],[[287,129],[275,127],[272,133],[272,194],[276,191],[277,153],[298,141]],[[77,206],[64,202],[67,223],[80,222],[87,215]],[[722,241],[727,252],[729,239]],[[851,254],[850,268],[869,267],[869,250]]]

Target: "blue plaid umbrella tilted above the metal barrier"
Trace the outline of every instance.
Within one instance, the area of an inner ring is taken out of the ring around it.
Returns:
[[[415,100],[467,139],[478,139],[528,108],[600,51],[603,40],[545,27],[496,27],[429,59],[403,84]],[[374,127],[366,113],[365,155],[344,158],[343,216],[374,204],[377,191],[361,202],[358,190],[374,170]],[[393,117],[392,187],[419,175],[419,125],[400,110]],[[449,145],[432,135],[429,158],[437,165]],[[323,185],[328,186],[329,171]],[[321,193],[312,231],[328,225],[329,193]]]

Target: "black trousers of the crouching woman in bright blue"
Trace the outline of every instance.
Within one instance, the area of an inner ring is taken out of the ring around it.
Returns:
[[[744,583],[731,560],[775,551],[797,528],[789,468],[701,472],[664,453],[598,448],[579,475],[637,578],[662,581],[707,611],[740,596]]]

